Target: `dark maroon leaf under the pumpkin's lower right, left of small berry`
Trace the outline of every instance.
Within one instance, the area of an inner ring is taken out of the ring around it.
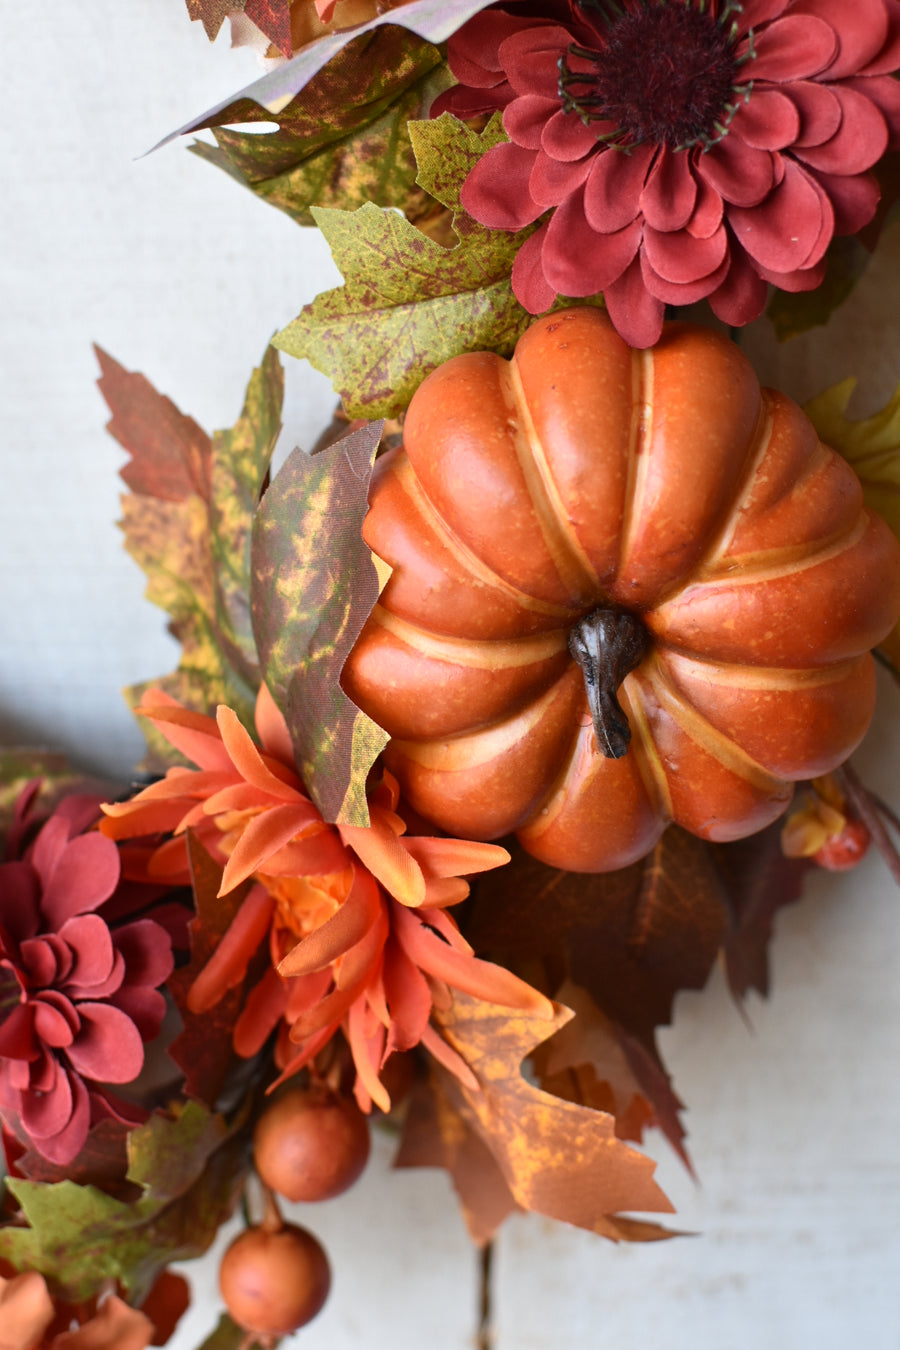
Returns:
[[[734,844],[712,845],[727,905],[723,941],[729,986],[737,999],[749,990],[769,992],[768,948],[775,915],[803,894],[812,863],[785,857],[781,821]]]

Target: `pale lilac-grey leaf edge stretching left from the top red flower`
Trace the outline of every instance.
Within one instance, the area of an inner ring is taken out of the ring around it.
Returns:
[[[204,0],[189,0],[189,3],[197,3],[200,8]],[[205,0],[205,4],[209,5],[210,11],[219,12],[220,0]],[[197,131],[200,127],[213,126],[231,104],[242,99],[252,100],[267,112],[281,112],[301,89],[306,88],[313,76],[318,74],[339,51],[362,34],[398,24],[409,32],[414,32],[425,42],[440,46],[441,42],[447,42],[452,32],[456,32],[457,28],[471,19],[472,15],[486,9],[488,4],[491,4],[491,0],[413,0],[412,4],[398,5],[397,8],[387,9],[385,14],[379,14],[368,23],[360,23],[339,32],[328,32],[322,38],[318,38],[318,40],[310,42],[293,59],[270,70],[260,80],[255,80],[246,89],[239,90],[239,93],[232,94],[229,99],[224,99],[215,108],[209,108],[198,117],[179,127],[178,131],[173,131],[171,135],[161,140],[154,148],[158,150],[177,136]],[[243,5],[233,4],[229,8],[239,9]],[[223,18],[225,12],[228,11],[223,12]],[[197,18],[200,18],[200,14]],[[219,19],[219,23],[221,23],[221,19]]]

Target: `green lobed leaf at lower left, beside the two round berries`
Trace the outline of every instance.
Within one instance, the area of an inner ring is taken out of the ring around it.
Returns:
[[[0,1228],[0,1258],[38,1270],[67,1301],[119,1281],[140,1304],[159,1272],[205,1251],[232,1212],[247,1166],[244,1122],[177,1103],[132,1130],[128,1156],[128,1180],[140,1188],[131,1203],[74,1181],[8,1177],[20,1212]]]

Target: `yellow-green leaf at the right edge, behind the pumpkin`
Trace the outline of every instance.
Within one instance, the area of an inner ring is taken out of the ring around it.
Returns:
[[[862,495],[900,539],[900,385],[870,417],[853,420],[846,409],[855,387],[851,377],[810,400],[804,410],[819,437],[839,451],[862,483]],[[900,679],[900,625],[881,643]]]

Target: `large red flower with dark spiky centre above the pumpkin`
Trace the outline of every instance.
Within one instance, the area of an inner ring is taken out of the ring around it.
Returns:
[[[503,109],[509,143],[463,205],[522,230],[513,289],[532,313],[603,292],[634,346],[667,304],[727,324],[766,284],[811,290],[834,235],[878,202],[900,146],[900,0],[541,0],[449,39],[460,84],[433,115]]]

